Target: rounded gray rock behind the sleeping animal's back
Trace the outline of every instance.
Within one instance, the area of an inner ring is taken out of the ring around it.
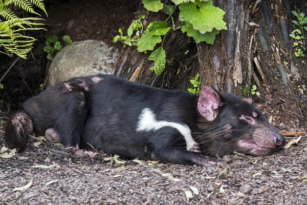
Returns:
[[[52,60],[48,70],[48,86],[72,77],[114,74],[118,49],[99,40],[82,40],[65,46]]]

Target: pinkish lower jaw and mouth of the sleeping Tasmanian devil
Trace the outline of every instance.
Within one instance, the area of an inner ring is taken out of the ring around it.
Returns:
[[[239,140],[238,147],[244,154],[266,156],[273,153],[276,150],[275,147],[261,146],[256,144],[254,141]]]

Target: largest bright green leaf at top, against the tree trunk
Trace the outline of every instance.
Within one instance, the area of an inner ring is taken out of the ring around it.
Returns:
[[[202,34],[211,32],[213,28],[227,30],[226,23],[223,20],[225,11],[214,7],[212,1],[189,2],[179,5],[179,9],[180,20],[191,24],[194,30],[198,30]]]

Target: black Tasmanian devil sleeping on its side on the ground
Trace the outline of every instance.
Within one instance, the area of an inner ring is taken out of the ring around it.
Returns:
[[[10,148],[28,134],[123,158],[213,165],[234,151],[269,155],[285,140],[251,99],[204,87],[200,95],[161,90],[111,75],[72,78],[26,101],[6,124]]]

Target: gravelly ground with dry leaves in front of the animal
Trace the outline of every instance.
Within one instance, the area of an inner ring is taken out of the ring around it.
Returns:
[[[0,204],[307,204],[306,139],[270,156],[224,156],[224,170],[80,158],[31,139],[27,152],[0,157]]]

